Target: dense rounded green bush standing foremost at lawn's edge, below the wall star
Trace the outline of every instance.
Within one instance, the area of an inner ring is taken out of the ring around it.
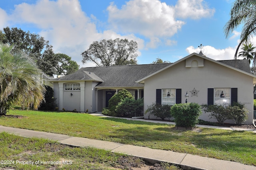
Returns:
[[[175,104],[171,108],[176,126],[194,127],[198,123],[198,117],[202,114],[201,106],[196,103]]]

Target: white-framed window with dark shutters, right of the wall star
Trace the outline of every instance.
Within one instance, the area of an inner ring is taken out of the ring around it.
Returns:
[[[214,88],[214,104],[230,103],[230,88]]]

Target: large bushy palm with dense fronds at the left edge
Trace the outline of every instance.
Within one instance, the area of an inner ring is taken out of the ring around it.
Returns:
[[[34,109],[40,106],[45,93],[40,72],[28,55],[14,45],[0,43],[0,115],[18,102]]]

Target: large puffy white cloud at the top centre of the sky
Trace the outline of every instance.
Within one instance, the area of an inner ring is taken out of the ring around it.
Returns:
[[[173,7],[159,0],[130,0],[121,9],[111,3],[107,10],[115,30],[146,37],[172,36],[184,25],[174,18]]]

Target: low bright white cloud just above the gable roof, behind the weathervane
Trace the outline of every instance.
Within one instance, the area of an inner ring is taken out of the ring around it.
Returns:
[[[186,51],[191,54],[191,53],[200,53],[200,48],[194,48],[193,46],[190,46],[186,48]],[[236,47],[228,47],[226,49],[216,49],[211,46],[204,46],[202,48],[202,53],[214,60],[232,60],[234,59],[234,54],[236,52]]]

